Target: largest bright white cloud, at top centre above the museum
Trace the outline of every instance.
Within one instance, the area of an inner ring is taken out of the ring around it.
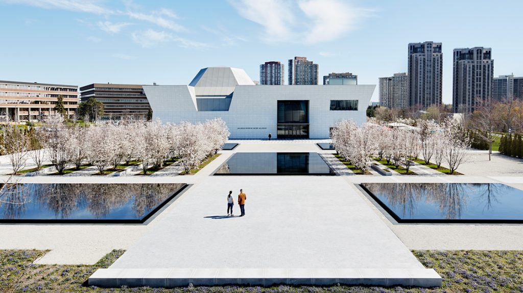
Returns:
[[[319,43],[338,39],[357,28],[372,9],[341,0],[230,0],[237,13],[264,27],[270,42]]]

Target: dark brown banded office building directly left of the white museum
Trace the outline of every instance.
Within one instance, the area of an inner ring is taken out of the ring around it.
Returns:
[[[80,88],[80,98],[82,102],[95,98],[104,104],[104,116],[97,120],[145,120],[150,108],[138,84],[93,83]]]

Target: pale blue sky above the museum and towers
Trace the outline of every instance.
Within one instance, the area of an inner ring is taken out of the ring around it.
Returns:
[[[285,62],[287,73],[304,56],[321,76],[377,84],[407,71],[408,42],[431,40],[442,42],[451,103],[454,48],[491,47],[496,76],[523,75],[521,11],[519,0],[0,0],[0,80],[188,84],[220,65],[259,80],[259,64]]]

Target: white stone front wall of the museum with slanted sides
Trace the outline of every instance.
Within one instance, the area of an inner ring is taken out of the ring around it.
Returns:
[[[220,67],[220,69],[229,67]],[[226,74],[225,74],[226,75]],[[219,84],[220,78],[217,83]],[[191,84],[195,84],[194,82]],[[198,86],[144,86],[154,119],[164,123],[203,122],[222,118],[231,131],[231,139],[263,139],[271,133],[277,138],[278,100],[309,101],[309,138],[329,138],[329,129],[337,121],[366,121],[366,110],[375,85],[245,85],[235,86],[228,111],[198,111]],[[210,98],[220,98],[214,95]],[[358,100],[358,110],[330,110],[331,100]]]

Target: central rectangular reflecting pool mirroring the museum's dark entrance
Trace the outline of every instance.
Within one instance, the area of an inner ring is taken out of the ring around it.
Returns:
[[[235,153],[214,175],[335,175],[318,153]]]

